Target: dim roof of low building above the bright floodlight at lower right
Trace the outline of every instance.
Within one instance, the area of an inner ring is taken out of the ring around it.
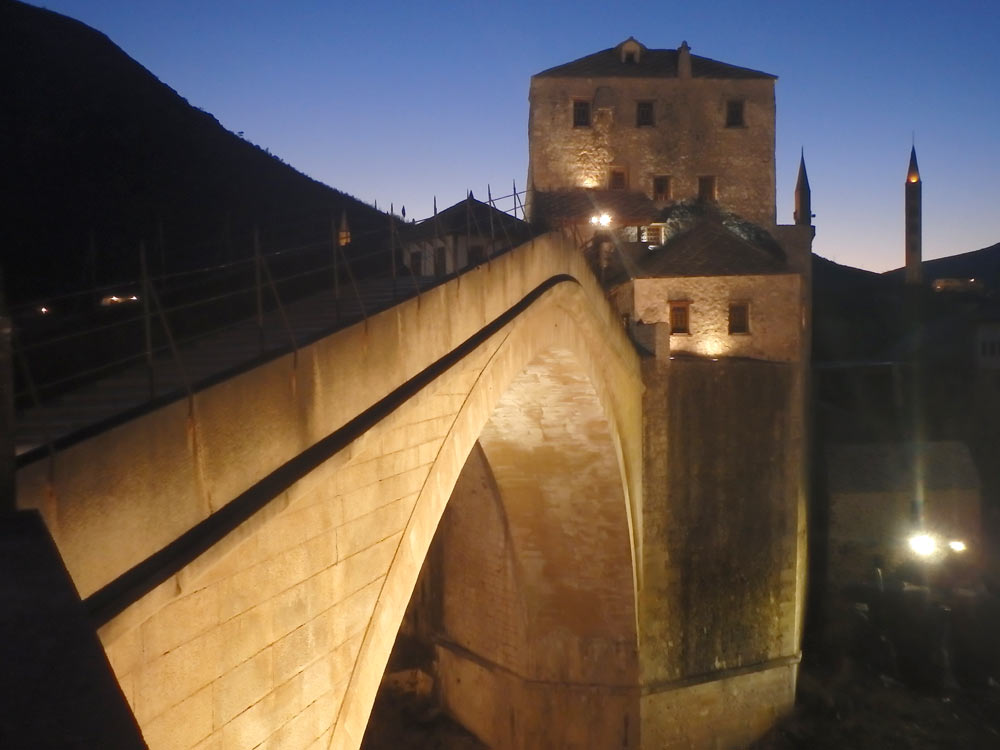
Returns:
[[[912,443],[860,443],[827,449],[830,492],[910,492],[915,486],[915,452]],[[947,441],[923,446],[923,482],[927,489],[979,488],[969,449]]]

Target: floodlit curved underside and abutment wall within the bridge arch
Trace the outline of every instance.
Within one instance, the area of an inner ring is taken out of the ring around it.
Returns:
[[[462,469],[401,644],[431,647],[438,700],[489,747],[635,746],[622,488],[589,378],[571,352],[542,352]]]

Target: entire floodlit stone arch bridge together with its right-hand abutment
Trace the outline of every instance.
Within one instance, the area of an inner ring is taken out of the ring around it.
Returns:
[[[787,443],[801,383],[672,366],[545,235],[21,466],[18,503],[151,748],[359,747],[436,585],[438,697],[490,746],[739,747],[792,703],[801,457],[755,448],[734,499],[713,451]],[[764,395],[718,444],[687,420],[720,378]]]

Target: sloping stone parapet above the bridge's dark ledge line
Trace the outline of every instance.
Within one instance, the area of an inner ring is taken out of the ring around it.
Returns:
[[[22,467],[18,504],[42,512],[87,597],[561,274],[576,279],[594,314],[615,325],[579,254],[561,235],[545,235],[190,402]],[[609,342],[616,356],[632,356],[618,338]]]

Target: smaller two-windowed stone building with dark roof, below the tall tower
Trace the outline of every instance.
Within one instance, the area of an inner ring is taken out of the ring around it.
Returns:
[[[620,243],[609,259],[622,279],[612,296],[633,338],[661,357],[800,361],[808,240],[790,244],[790,257],[734,216],[703,208],[691,222],[678,230],[661,217],[642,229],[646,239],[666,236],[662,245]]]

